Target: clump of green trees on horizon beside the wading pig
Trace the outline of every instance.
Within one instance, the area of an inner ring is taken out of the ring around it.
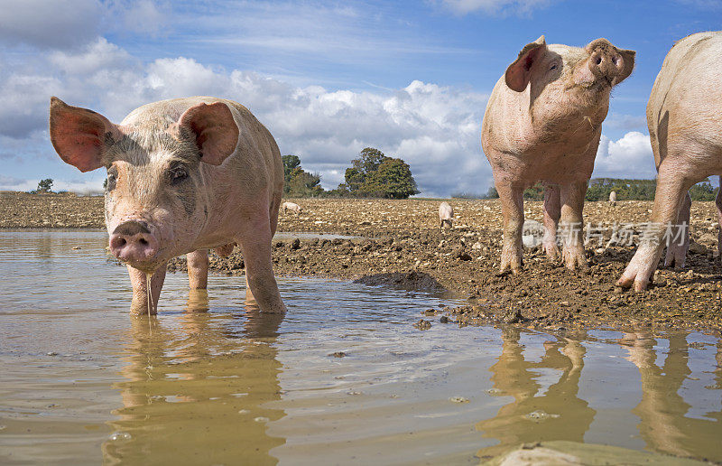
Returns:
[[[301,168],[298,156],[283,155],[282,160],[285,178],[283,194],[290,198],[407,199],[420,192],[408,163],[389,157],[373,147],[361,151],[346,169],[344,182],[329,191],[321,187],[318,172],[310,173]]]

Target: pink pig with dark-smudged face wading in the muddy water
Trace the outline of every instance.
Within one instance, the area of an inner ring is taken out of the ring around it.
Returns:
[[[273,136],[236,102],[175,98],[120,125],[51,98],[51,142],[81,172],[106,167],[110,251],[128,266],[131,312],[156,312],[166,263],[187,254],[190,288],[208,282],[208,248],[244,256],[246,297],[285,312],[271,262],[283,188]],[[151,279],[148,303],[146,276]]]

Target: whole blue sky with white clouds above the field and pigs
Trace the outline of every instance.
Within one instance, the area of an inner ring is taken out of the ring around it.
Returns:
[[[371,145],[412,166],[422,195],[486,192],[479,136],[496,79],[527,42],[606,37],[637,51],[603,126],[595,176],[654,176],[644,107],[671,45],[718,30],[722,1],[24,0],[0,11],[0,190],[98,190],[60,161],[56,95],[119,122],[162,98],[213,95],[254,112],[326,188]]]

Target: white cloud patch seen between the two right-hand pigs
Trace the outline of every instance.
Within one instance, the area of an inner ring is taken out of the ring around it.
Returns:
[[[616,141],[602,135],[593,177],[654,178],[656,175],[649,135],[630,131]]]

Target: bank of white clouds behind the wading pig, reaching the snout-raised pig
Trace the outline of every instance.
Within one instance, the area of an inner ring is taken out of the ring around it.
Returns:
[[[343,180],[350,160],[366,146],[410,163],[426,195],[483,192],[491,180],[479,143],[487,96],[468,89],[418,80],[377,92],[297,87],[184,57],[143,64],[99,38],[82,50],[50,51],[31,67],[6,73],[0,98],[8,105],[0,118],[11,123],[0,128],[0,136],[15,143],[12,153],[0,157],[17,157],[23,144],[37,147],[38,141],[48,150],[32,156],[52,154],[46,129],[53,94],[116,122],[164,98],[234,99],[271,130],[283,154],[297,154],[305,169],[320,172],[326,188]]]

